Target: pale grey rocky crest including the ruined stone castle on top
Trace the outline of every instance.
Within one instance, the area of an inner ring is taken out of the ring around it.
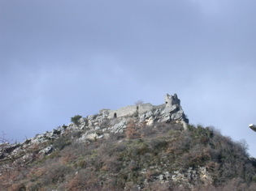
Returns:
[[[28,151],[31,147],[39,146],[39,154],[50,155],[54,151],[54,146],[43,146],[44,142],[61,138],[67,132],[80,132],[79,142],[90,142],[98,138],[108,138],[110,134],[124,133],[129,121],[137,121],[145,125],[153,125],[157,122],[176,122],[187,128],[189,120],[184,115],[180,106],[180,99],[176,94],[174,96],[166,95],[165,103],[160,105],[137,104],[130,105],[116,110],[102,109],[98,114],[81,117],[78,125],[70,123],[69,125],[59,126],[52,131],[46,131],[43,134],[37,134],[34,138],[27,139],[23,143],[0,145],[0,159],[20,155],[21,152]],[[3,149],[4,148],[4,149]]]

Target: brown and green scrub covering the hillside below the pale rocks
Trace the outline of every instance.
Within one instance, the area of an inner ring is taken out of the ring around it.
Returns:
[[[107,123],[105,123],[107,125]],[[1,190],[255,190],[255,166],[245,142],[218,130],[174,123],[145,125],[131,120],[124,134],[78,142],[69,132],[44,143],[50,155],[24,168],[1,172]],[[37,150],[33,151],[37,153]],[[173,181],[165,172],[205,167],[210,180]]]

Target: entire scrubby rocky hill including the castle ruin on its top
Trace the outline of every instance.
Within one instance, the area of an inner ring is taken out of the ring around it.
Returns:
[[[245,142],[190,125],[176,94],[0,144],[1,190],[256,190]]]

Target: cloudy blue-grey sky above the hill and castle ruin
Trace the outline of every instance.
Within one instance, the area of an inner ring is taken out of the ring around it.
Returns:
[[[163,104],[256,157],[256,1],[0,0],[0,131],[23,142],[102,108]]]

